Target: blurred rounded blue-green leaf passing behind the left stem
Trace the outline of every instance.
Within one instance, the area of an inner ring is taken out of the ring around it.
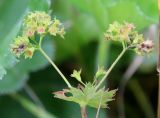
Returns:
[[[53,57],[53,45],[50,40],[44,42],[43,48],[50,57]],[[35,53],[32,59],[21,58],[14,67],[7,69],[6,76],[0,81],[0,93],[19,90],[25,85],[29,72],[42,69],[48,64],[48,61],[39,52]]]

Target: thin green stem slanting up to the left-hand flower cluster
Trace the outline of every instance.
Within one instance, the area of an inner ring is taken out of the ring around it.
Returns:
[[[62,77],[62,79],[65,81],[67,86],[71,88],[71,84],[68,82],[66,77],[62,74],[62,72],[59,70],[59,68],[55,65],[55,63],[50,59],[50,57],[43,51],[42,48],[39,48],[39,51],[43,54],[43,56],[52,64],[52,66],[56,69],[56,71],[59,73],[59,75]]]

